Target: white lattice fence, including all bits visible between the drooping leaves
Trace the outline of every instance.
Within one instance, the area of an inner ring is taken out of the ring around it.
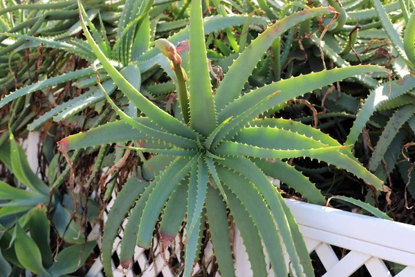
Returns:
[[[38,141],[38,134],[30,133],[28,141],[24,142],[24,145],[27,145],[26,153],[33,170],[37,168]],[[109,209],[114,199],[115,197],[109,203]],[[304,234],[309,253],[316,253],[322,262],[326,270],[326,273],[322,275],[323,277],[348,277],[360,267],[366,267],[372,277],[394,276],[385,265],[385,261],[394,262],[405,267],[395,277],[415,277],[415,226],[290,199],[286,199],[286,203],[291,208],[291,212]],[[104,215],[104,222],[106,220],[107,215]],[[124,224],[126,223],[127,221],[124,222]],[[100,245],[99,230],[100,226],[94,226],[89,239],[98,240]],[[122,233],[120,233],[120,237],[122,237]],[[119,244],[120,238],[116,238],[113,243],[113,249],[116,253],[120,253]],[[237,276],[251,277],[252,271],[250,271],[248,256],[245,253],[239,231],[236,231],[234,235],[233,245]],[[347,249],[349,252],[339,258],[333,247]],[[180,256],[179,251],[178,242],[176,241],[174,254],[177,257]],[[168,259],[170,253],[166,252],[165,258]],[[212,247],[208,244],[205,257],[209,259],[211,256]],[[158,274],[162,274],[164,277],[174,276],[158,249],[154,251],[152,262],[149,262],[145,249],[136,247],[134,261],[138,263],[143,277],[154,277]],[[286,266],[288,267],[288,260],[286,260]],[[197,268],[195,269],[197,271]],[[132,269],[122,271],[113,266],[113,271],[116,277],[134,276]],[[104,276],[100,258],[95,260],[86,274],[86,277],[95,276]],[[272,270],[269,276],[274,276]]]

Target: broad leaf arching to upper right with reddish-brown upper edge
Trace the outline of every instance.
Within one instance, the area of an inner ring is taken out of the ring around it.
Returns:
[[[248,80],[252,70],[277,37],[284,34],[286,30],[301,21],[331,12],[334,12],[333,8],[310,8],[308,10],[303,10],[302,12],[296,12],[293,15],[277,21],[273,26],[267,28],[264,33],[261,33],[261,35],[251,42],[245,51],[239,55],[237,60],[230,67],[228,73],[225,74],[219,88],[216,89],[214,96],[216,111],[220,112],[226,105],[232,102],[232,100],[239,97],[243,85],[246,83],[246,80]],[[219,123],[221,122],[222,120],[219,121]]]

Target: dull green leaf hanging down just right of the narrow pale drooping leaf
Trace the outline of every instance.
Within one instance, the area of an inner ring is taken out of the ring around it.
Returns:
[[[219,191],[212,186],[208,186],[206,195],[206,215],[208,216],[210,240],[212,240],[214,256],[219,265],[221,276],[235,276],[226,205],[219,195]]]

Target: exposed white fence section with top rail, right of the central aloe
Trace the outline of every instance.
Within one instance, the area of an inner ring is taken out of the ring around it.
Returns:
[[[372,277],[394,276],[384,261],[406,266],[396,277],[415,276],[415,226],[286,201],[300,226],[308,251],[315,251],[326,274],[347,277],[365,266]],[[338,259],[333,248],[349,249]]]

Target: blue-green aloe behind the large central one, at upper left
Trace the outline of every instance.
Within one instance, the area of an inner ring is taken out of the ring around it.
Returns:
[[[165,70],[168,70],[168,64],[163,59],[160,60],[160,55],[157,55],[158,53],[152,51],[153,49],[149,49],[149,44],[152,42],[151,38],[155,35],[151,35],[151,33],[156,32],[156,28],[152,25],[157,25],[157,22],[159,20],[158,17],[152,18],[151,20],[149,19],[149,10],[153,2],[154,1],[126,1],[127,4],[124,5],[121,15],[118,15],[118,33],[115,37],[116,44],[114,44],[113,46],[111,46],[111,44],[109,43],[109,35],[105,31],[104,24],[116,20],[112,19],[113,17],[115,17],[115,12],[109,12],[107,10],[110,8],[114,8],[114,6],[117,7],[120,3],[116,2],[111,4],[111,6],[98,5],[98,7],[100,7],[100,10],[97,10],[95,8],[93,16],[88,16],[88,19],[90,21],[92,21],[92,19],[94,19],[95,17],[100,19],[99,26],[96,26],[96,23],[90,23],[90,26],[93,28],[93,35],[95,39],[97,39],[102,49],[104,50],[104,53],[106,53],[106,55],[112,60],[113,64],[115,64],[118,67],[118,69],[122,69],[122,73],[124,74],[124,76],[136,74],[135,69],[133,69],[133,66],[131,66],[131,62],[136,62],[140,65],[141,73],[145,73],[146,71],[149,71],[149,69],[153,69],[154,65],[156,64],[160,64],[160,66],[162,66]],[[37,6],[39,5],[24,5],[21,6],[21,8],[33,9]],[[41,5],[41,7],[52,8],[53,5]],[[95,6],[92,6],[92,8],[94,7]],[[162,11],[163,10],[161,10],[159,13],[161,13]],[[104,12],[105,17],[101,16],[101,13],[104,14]],[[89,14],[90,12],[87,10],[87,13]],[[218,16],[210,17],[208,19],[205,19],[205,30],[207,30],[209,33],[212,33],[223,28],[243,25],[243,22],[246,18],[247,17],[244,15],[237,15],[228,18],[222,18]],[[259,17],[254,17],[252,19],[252,23],[265,25],[266,21],[264,19],[260,19]],[[75,30],[79,31],[80,26],[78,25],[79,22],[73,25],[73,32],[75,32]],[[59,35],[48,37],[35,37],[33,36],[33,34],[30,33],[25,35],[19,33],[12,33],[12,29],[8,30],[7,32],[6,30],[4,30],[3,32],[4,33],[2,33],[1,35],[3,35],[2,37],[4,38],[10,37],[11,39],[17,39],[16,42],[19,43],[26,42],[26,44],[22,45],[20,48],[17,49],[19,50],[19,53],[21,53],[22,49],[24,48],[31,48],[33,49],[33,51],[37,52],[37,46],[39,46],[39,44],[42,44],[44,47],[55,49],[55,51],[62,50],[66,53],[72,53],[74,55],[80,56],[91,63],[93,63],[96,59],[95,55],[93,55],[93,53],[91,52],[90,46],[88,46],[88,44],[85,44],[85,42],[83,42],[81,39],[75,39],[73,37],[68,39],[67,37],[59,37]],[[42,35],[42,33],[40,33],[40,35]],[[168,39],[173,43],[188,39],[188,28],[184,28],[178,33],[172,35],[172,37],[169,37]],[[14,53],[12,53],[10,49],[3,48],[2,50],[5,54],[7,54],[5,56],[6,58],[12,58],[15,55]],[[17,63],[17,60],[13,60],[13,62]],[[34,62],[35,61],[33,61],[33,63]],[[50,65],[46,64],[45,67],[46,66]],[[64,69],[65,63],[59,64],[58,68]],[[99,66],[97,69],[98,71],[102,72],[102,69],[100,69]],[[24,73],[26,73],[26,75],[28,74],[25,71],[21,72],[21,74]],[[61,105],[57,105],[57,107],[50,109],[50,111],[48,111],[46,114],[37,118],[37,120],[34,120],[33,123],[30,123],[30,125],[28,125],[28,129],[38,129],[47,120],[50,120],[51,118],[53,118],[55,122],[66,120],[68,118],[71,118],[71,116],[74,116],[75,114],[79,113],[83,109],[86,109],[86,107],[91,107],[91,105],[94,105],[104,100],[104,95],[102,94],[100,88],[96,84],[95,79],[92,78],[91,80],[91,78],[89,78],[94,74],[95,72],[92,69],[77,69],[73,72],[53,76],[52,78],[46,78],[46,80],[41,80],[36,84],[28,84],[26,87],[17,89],[13,93],[8,93],[8,95],[1,99],[0,108],[4,107],[4,105],[8,104],[9,102],[12,102],[12,100],[21,98],[22,96],[29,96],[35,91],[39,91],[41,89],[48,89],[49,87],[53,87],[56,85],[59,86],[65,84],[66,82],[73,82],[73,87],[77,87],[79,89],[89,89],[89,93],[83,93],[80,96],[77,96],[76,98],[71,98],[70,100],[63,102]],[[153,73],[147,74],[147,77],[145,79],[143,77],[142,82],[148,80],[152,74],[154,74],[154,71]],[[26,75],[23,75],[23,77],[26,78]],[[8,87],[8,89],[11,90],[13,80],[12,74],[7,75],[5,77],[5,81],[6,79],[8,81],[8,85],[10,86]],[[102,78],[103,82],[105,80],[107,80],[107,78]],[[108,90],[109,93],[113,93],[113,91],[116,91],[117,89],[116,85],[113,84],[111,81],[107,82],[104,85],[104,87]],[[152,89],[151,86],[143,86],[142,91],[151,98],[157,96],[152,93],[154,89]],[[164,89],[162,93],[167,93],[168,91],[169,90],[167,88],[167,90]]]

